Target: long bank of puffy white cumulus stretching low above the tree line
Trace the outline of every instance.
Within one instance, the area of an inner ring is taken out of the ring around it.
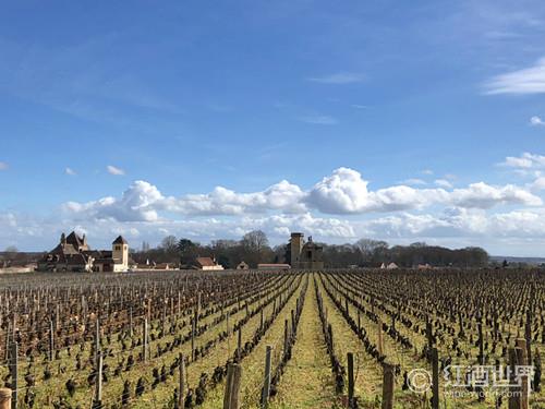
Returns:
[[[443,183],[446,185],[447,182]],[[305,191],[282,180],[264,191],[241,193],[217,187],[209,193],[166,196],[146,181],[135,181],[121,197],[107,196],[87,203],[68,202],[63,209],[81,218],[121,221],[156,221],[160,215],[244,216],[267,213],[365,214],[422,209],[433,205],[491,208],[501,204],[538,206],[542,201],[513,184],[493,187],[484,182],[463,189],[417,189],[407,184],[371,191],[356,170],[339,168]],[[537,187],[534,187],[537,188]]]

